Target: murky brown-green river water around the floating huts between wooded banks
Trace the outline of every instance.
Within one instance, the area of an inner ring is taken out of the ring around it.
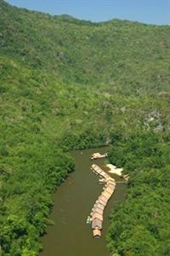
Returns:
[[[43,251],[40,256],[110,256],[105,235],[109,228],[109,215],[118,201],[124,201],[127,184],[117,183],[105,208],[101,239],[92,236],[92,229],[86,224],[94,202],[102,192],[104,185],[99,184],[99,177],[94,175],[90,166],[95,163],[105,171],[105,160],[90,160],[94,152],[105,153],[108,147],[76,150],[71,154],[75,160],[75,172],[65,180],[54,195],[54,207],[49,216],[54,221],[48,226],[42,237]],[[121,177],[111,175],[116,181]]]

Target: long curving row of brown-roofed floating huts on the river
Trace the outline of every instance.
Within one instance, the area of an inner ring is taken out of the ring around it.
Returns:
[[[103,215],[104,210],[107,205],[107,202],[110,200],[111,195],[114,193],[116,188],[115,179],[112,178],[109,174],[104,172],[99,166],[92,165],[91,169],[93,172],[99,177],[102,178],[103,182],[105,183],[105,187],[101,195],[97,201],[95,201],[94,207],[91,212],[91,220],[92,220],[92,230],[93,235],[96,238],[101,237],[101,230],[102,230],[102,223],[103,223]]]

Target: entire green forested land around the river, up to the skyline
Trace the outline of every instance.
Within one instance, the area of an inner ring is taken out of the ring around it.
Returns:
[[[169,60],[170,26],[92,23],[0,0],[3,256],[38,255],[54,190],[74,169],[68,151],[104,144],[130,175],[111,253],[170,255]]]

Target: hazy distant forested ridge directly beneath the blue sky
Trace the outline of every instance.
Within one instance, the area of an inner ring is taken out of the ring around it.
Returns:
[[[168,87],[169,26],[92,23],[17,9],[1,0],[0,28],[1,55],[67,82]]]

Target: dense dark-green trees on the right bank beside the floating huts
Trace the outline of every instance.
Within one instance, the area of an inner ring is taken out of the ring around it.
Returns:
[[[170,253],[169,146],[169,136],[138,131],[111,148],[111,163],[130,175],[126,202],[111,215],[107,240],[115,255]]]

